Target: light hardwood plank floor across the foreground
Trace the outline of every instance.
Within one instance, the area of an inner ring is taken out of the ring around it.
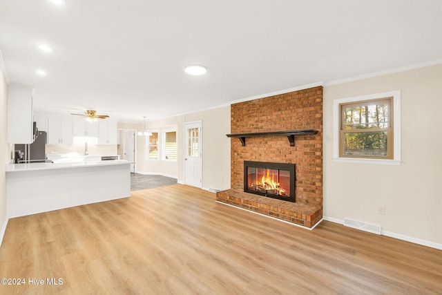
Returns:
[[[332,222],[308,231],[174,184],[11,219],[0,275],[26,279],[0,294],[442,294],[442,251]]]

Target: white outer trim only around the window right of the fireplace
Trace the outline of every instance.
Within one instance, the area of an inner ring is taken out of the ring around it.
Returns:
[[[393,97],[393,160],[366,159],[366,158],[340,158],[339,157],[339,133],[340,133],[340,104],[358,102],[383,97]],[[333,160],[334,162],[360,163],[360,164],[401,164],[401,91],[388,91],[372,93],[333,100]]]

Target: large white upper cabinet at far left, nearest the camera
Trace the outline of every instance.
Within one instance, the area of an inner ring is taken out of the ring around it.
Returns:
[[[34,88],[11,84],[8,86],[8,143],[32,144]]]

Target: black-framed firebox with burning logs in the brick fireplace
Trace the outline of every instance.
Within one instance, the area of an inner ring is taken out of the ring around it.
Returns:
[[[295,164],[244,161],[244,192],[296,202]]]

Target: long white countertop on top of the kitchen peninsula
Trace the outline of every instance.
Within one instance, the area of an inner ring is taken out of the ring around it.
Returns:
[[[93,167],[93,166],[111,166],[111,165],[122,165],[122,164],[132,164],[132,163],[133,162],[126,160],[110,160],[110,161],[66,162],[66,163],[6,164],[6,172],[84,168],[84,167]]]

